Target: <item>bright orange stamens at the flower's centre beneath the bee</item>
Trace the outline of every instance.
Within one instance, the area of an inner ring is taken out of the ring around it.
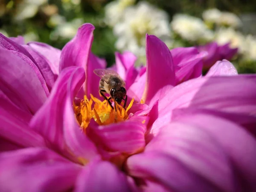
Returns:
[[[134,103],[134,99],[132,99],[125,109],[115,102],[115,110],[111,108],[107,100],[101,101],[93,95],[90,95],[90,97],[91,98],[88,99],[87,96],[84,96],[80,105],[73,105],[76,119],[82,129],[88,127],[91,119],[94,119],[99,125],[108,125],[128,119],[128,111]]]

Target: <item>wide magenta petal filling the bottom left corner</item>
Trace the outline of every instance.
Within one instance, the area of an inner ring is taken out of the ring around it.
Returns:
[[[1,191],[69,191],[81,166],[45,148],[0,154]]]

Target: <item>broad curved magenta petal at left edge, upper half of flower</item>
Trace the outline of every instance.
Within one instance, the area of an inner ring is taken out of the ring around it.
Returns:
[[[0,49],[1,90],[15,105],[25,104],[32,113],[46,101],[49,90],[38,68],[26,55]],[[17,67],[17,64],[19,67]],[[26,110],[26,109],[25,109]]]

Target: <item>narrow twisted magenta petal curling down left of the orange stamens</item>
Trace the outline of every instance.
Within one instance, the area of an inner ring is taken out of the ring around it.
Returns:
[[[98,154],[96,146],[81,130],[74,116],[73,99],[84,82],[84,70],[78,68],[67,82],[67,99],[64,107],[64,139],[72,154],[81,162],[87,162]]]

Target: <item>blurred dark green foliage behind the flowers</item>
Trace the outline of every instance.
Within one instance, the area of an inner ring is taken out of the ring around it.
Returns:
[[[25,1],[25,0],[24,0]],[[37,0],[26,0],[32,2]],[[41,0],[38,0],[41,1]],[[139,0],[137,0],[138,2]],[[147,0],[169,14],[169,19],[176,13],[186,13],[201,17],[202,12],[209,8],[218,8],[223,11],[234,12],[237,15],[256,12],[255,0]],[[105,25],[104,7],[111,0],[45,0],[38,6],[34,16],[17,20],[20,6],[23,0],[0,0],[0,32],[7,32],[11,37],[25,35],[28,40],[41,41],[62,49],[70,41],[70,38],[52,38],[52,32],[64,23],[71,23],[74,19],[80,18],[82,23],[92,23],[96,29],[94,31],[94,41],[92,51],[102,58],[106,58],[108,64],[114,62],[114,46],[116,37],[112,29]],[[58,24],[52,25],[50,19],[53,15],[64,18]],[[76,27],[77,28],[77,27]],[[32,34],[32,35],[31,35]],[[29,36],[30,35],[30,36]],[[252,65],[252,64],[248,64]],[[241,72],[251,72],[247,67],[241,68]]]

